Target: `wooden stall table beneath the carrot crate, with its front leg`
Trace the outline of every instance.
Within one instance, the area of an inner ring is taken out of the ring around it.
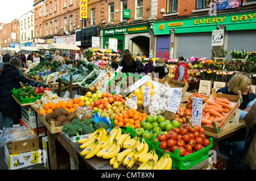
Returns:
[[[236,134],[240,134],[245,128],[246,128],[245,121],[240,120],[236,125],[222,128],[220,133],[213,133],[209,131],[205,131],[204,133],[207,137],[213,138],[212,150],[217,151],[219,141],[225,140],[226,138],[232,137]]]

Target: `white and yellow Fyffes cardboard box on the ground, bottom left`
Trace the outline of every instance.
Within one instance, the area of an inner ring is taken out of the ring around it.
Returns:
[[[5,146],[5,161],[10,170],[16,170],[23,167],[41,163],[41,150],[28,151],[19,154],[10,154]]]

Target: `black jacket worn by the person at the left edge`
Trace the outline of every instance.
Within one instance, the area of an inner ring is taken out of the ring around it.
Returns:
[[[0,112],[15,113],[20,109],[11,96],[11,90],[20,89],[20,82],[29,83],[31,80],[20,74],[13,64],[5,63],[0,75]]]

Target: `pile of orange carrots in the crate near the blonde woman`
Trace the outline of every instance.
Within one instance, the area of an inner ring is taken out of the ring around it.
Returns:
[[[220,124],[231,109],[232,104],[229,99],[216,97],[213,100],[208,100],[203,109],[201,124],[212,127],[212,121],[215,120]]]

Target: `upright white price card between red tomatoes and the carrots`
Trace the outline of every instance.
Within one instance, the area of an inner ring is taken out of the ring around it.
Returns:
[[[192,125],[201,126],[203,99],[193,97],[192,103]]]

